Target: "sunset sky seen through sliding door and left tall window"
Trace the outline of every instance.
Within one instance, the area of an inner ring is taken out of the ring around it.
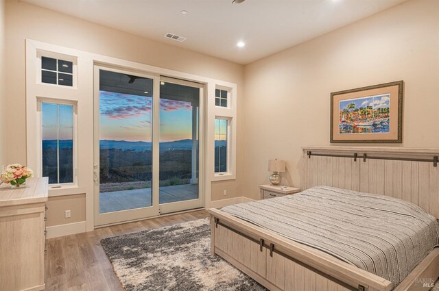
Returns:
[[[99,97],[99,139],[151,142],[151,97],[104,91]],[[161,99],[160,108],[161,142],[192,138],[191,103]],[[73,138],[73,105],[43,103],[42,111],[43,140],[56,140],[57,131],[60,140]]]

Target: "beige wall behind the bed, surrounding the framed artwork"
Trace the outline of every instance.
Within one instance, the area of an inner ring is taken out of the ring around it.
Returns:
[[[244,192],[287,160],[300,186],[300,147],[329,145],[330,93],[405,81],[403,147],[439,147],[439,1],[412,0],[245,68]],[[395,144],[393,144],[395,146]]]

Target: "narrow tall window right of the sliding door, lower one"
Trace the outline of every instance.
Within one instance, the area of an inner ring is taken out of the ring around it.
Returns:
[[[215,173],[227,172],[228,120],[215,118]]]

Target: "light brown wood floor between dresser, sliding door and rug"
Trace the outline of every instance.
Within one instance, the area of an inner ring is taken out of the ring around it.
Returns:
[[[208,217],[204,210],[103,227],[47,240],[46,290],[123,291],[100,240]]]

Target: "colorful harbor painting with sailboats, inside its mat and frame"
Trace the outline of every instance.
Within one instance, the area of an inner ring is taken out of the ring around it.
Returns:
[[[340,134],[388,133],[390,93],[339,101]]]

